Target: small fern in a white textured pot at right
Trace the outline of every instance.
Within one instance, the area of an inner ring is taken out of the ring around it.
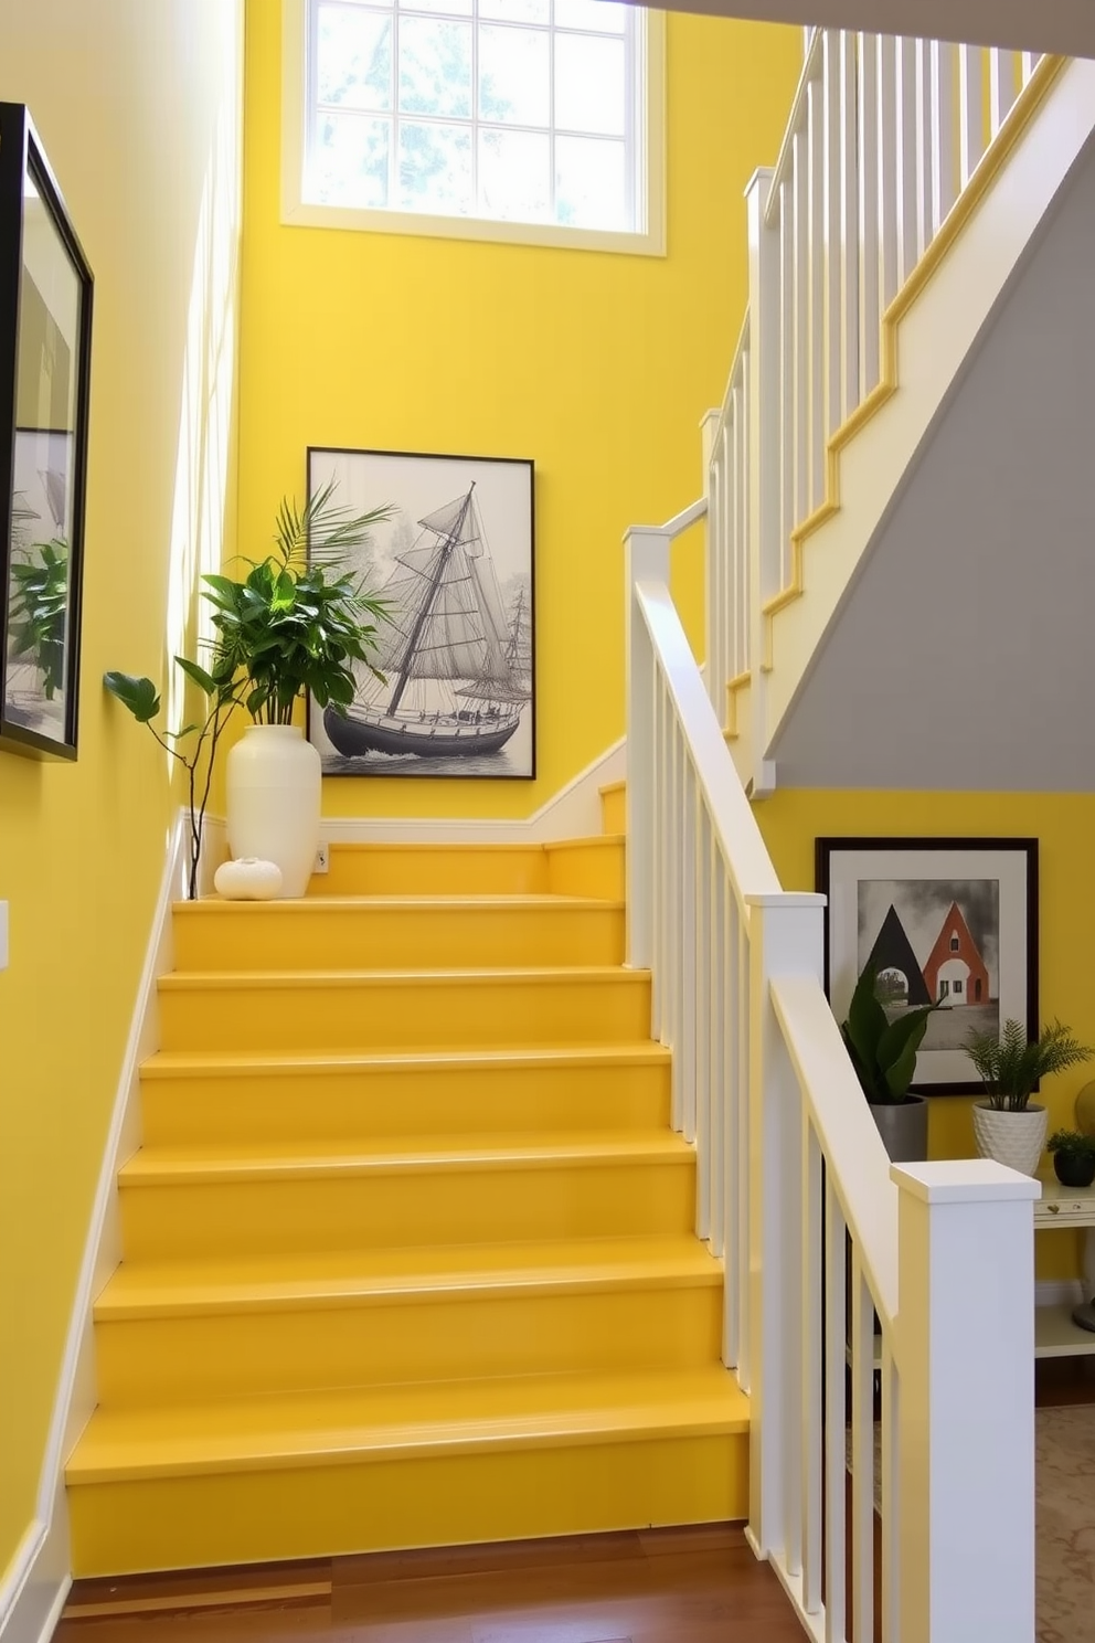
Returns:
[[[1006,1020],[1000,1033],[975,1032],[965,1053],[985,1094],[974,1102],[974,1139],[982,1158],[995,1158],[1021,1175],[1036,1175],[1046,1145],[1046,1107],[1031,1096],[1042,1078],[1064,1073],[1095,1052],[1069,1027],[1052,1022],[1028,1038],[1023,1022]]]

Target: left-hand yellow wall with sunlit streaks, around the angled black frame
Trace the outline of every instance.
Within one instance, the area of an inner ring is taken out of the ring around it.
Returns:
[[[34,1518],[177,803],[100,680],[163,679],[192,555],[222,549],[238,18],[235,0],[0,0],[0,97],[30,104],[95,274],[79,761],[0,752],[0,1584]]]

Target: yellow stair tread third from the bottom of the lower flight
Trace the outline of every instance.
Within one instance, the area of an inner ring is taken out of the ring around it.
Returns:
[[[520,1170],[553,1165],[629,1165],[693,1158],[693,1148],[670,1130],[566,1132],[561,1135],[432,1135],[348,1140],[343,1150],[310,1152],[300,1142],[266,1142],[261,1150],[243,1144],[217,1147],[143,1147],[123,1163],[118,1180],[126,1185],[164,1181],[277,1180],[317,1175],[402,1175],[453,1170]]]

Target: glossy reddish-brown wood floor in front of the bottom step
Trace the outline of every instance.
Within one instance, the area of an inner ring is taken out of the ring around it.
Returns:
[[[57,1643],[801,1643],[742,1525],[82,1581]]]

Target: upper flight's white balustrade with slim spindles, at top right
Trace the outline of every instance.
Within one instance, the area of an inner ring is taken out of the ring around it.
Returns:
[[[778,161],[749,187],[749,314],[722,407],[704,421],[708,688],[721,723],[727,682],[752,675],[762,726],[762,623],[801,588],[801,541],[834,506],[834,452],[893,388],[883,319],[923,278],[1038,62],[811,35]]]

